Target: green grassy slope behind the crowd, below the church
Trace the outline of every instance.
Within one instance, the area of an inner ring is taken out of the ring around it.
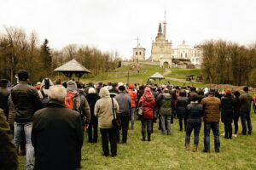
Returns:
[[[123,66],[118,68],[115,71],[104,72],[95,77],[84,77],[82,82],[127,82],[128,81],[128,67]],[[200,75],[199,69],[164,69],[160,68],[157,65],[142,65],[141,72],[131,72],[129,71],[129,82],[130,83],[146,83],[148,77],[152,76],[155,72],[160,72],[164,74],[166,70],[171,70],[170,74],[167,74],[165,77],[174,77],[185,79],[186,75],[194,74]],[[167,82],[168,80],[162,80],[161,82]],[[175,84],[183,84],[181,82],[169,81]],[[157,81],[159,83],[159,81]]]

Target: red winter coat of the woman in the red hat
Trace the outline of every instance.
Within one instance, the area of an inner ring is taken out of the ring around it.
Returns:
[[[153,119],[154,118],[154,107],[155,100],[152,94],[143,94],[139,100],[138,106],[143,105],[143,118],[144,119]]]

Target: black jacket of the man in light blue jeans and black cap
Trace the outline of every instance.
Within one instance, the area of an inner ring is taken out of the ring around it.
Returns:
[[[11,89],[11,96],[17,111],[15,122],[32,122],[34,113],[42,108],[38,90],[20,81]]]

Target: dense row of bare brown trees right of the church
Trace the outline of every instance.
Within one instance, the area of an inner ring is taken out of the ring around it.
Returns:
[[[256,44],[209,40],[202,44],[202,74],[206,82],[256,86]]]

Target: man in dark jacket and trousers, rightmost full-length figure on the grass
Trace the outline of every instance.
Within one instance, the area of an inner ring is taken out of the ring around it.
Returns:
[[[252,134],[252,122],[251,122],[251,105],[253,98],[248,94],[249,88],[243,88],[244,94],[241,94],[240,99],[240,114],[241,114],[241,134],[243,135],[251,135]],[[247,131],[248,128],[248,131]]]

